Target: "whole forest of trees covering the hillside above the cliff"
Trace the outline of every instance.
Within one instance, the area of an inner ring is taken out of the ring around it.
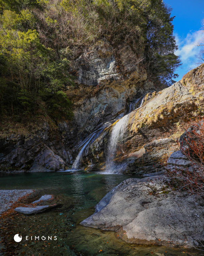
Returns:
[[[162,0],[0,0],[1,115],[72,118],[71,61],[101,38],[171,84],[180,65],[172,20]]]

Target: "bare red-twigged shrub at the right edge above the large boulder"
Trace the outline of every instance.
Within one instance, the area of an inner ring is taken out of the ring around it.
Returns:
[[[204,196],[204,120],[195,122],[180,138],[180,150],[191,161],[189,168],[176,167],[168,175],[179,190]]]

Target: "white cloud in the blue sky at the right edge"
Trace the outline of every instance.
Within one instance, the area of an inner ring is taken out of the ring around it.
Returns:
[[[192,66],[192,61],[196,61],[195,55],[197,55],[200,52],[201,47],[203,47],[198,45],[204,41],[204,31],[190,31],[184,39],[180,38],[179,35],[176,34],[175,38],[176,44],[179,46],[175,54],[181,56],[183,64],[187,64],[187,62],[191,61],[189,64]]]

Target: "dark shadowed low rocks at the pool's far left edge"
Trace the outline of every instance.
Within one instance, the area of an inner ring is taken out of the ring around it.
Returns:
[[[48,123],[29,134],[12,134],[0,140],[1,171],[64,170],[69,161],[61,134]]]

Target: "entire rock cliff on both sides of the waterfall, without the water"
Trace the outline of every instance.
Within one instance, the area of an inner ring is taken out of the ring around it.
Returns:
[[[6,134],[0,140],[0,170],[64,170],[71,166],[86,137],[98,130],[102,131],[99,137],[82,154],[82,166],[104,168],[113,123],[132,110],[114,161],[125,163],[126,173],[162,168],[177,150],[183,125],[202,111],[204,65],[164,88],[147,79],[140,63],[131,73],[124,73],[120,61],[107,42],[78,56],[72,65],[78,85],[67,88],[73,120],[55,124],[47,119],[38,129]],[[143,96],[142,106],[134,110]]]

